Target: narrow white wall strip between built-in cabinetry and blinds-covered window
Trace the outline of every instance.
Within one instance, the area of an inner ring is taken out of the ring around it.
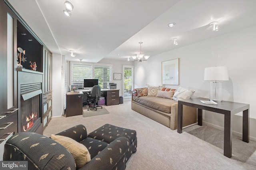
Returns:
[[[65,62],[65,60],[64,60]],[[61,116],[64,108],[65,64],[62,67],[62,55],[52,54],[52,117]],[[62,70],[63,68],[63,70]],[[62,81],[63,80],[63,81]]]

